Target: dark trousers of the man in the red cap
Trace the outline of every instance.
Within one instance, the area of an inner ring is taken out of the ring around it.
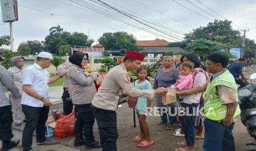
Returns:
[[[115,111],[92,107],[99,126],[100,141],[103,151],[116,151],[117,115]]]

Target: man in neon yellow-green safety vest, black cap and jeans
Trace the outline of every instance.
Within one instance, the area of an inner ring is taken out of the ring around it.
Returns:
[[[213,75],[204,92],[204,151],[235,150],[232,130],[241,111],[236,82],[227,65],[228,57],[221,53],[206,60],[206,68]]]

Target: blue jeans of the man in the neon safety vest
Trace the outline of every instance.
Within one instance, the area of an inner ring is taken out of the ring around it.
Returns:
[[[205,137],[204,137],[204,151],[234,151],[235,141],[233,137],[233,127],[235,122],[226,127],[222,122],[205,119]]]

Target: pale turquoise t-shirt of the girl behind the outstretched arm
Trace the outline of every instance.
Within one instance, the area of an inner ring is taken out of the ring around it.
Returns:
[[[139,80],[136,80],[134,83],[135,88],[140,90],[152,90],[152,85],[148,80],[145,80],[142,83],[138,83]],[[140,111],[146,111],[146,106],[148,105],[148,98],[139,97],[136,104],[136,109]]]

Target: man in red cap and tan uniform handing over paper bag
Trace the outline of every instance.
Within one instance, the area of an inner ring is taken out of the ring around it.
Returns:
[[[102,150],[117,150],[116,109],[120,95],[126,93],[131,97],[154,98],[155,94],[164,94],[166,88],[156,90],[138,90],[130,83],[127,71],[135,72],[144,60],[145,55],[138,51],[126,51],[123,63],[112,68],[102,82],[99,91],[92,100],[95,118],[99,126]]]

